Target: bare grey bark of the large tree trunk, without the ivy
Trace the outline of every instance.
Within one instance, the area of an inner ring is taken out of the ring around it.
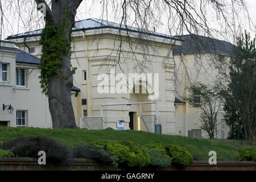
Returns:
[[[53,32],[61,31],[58,29],[60,24],[67,24],[64,31],[65,39],[70,43],[71,30],[75,24],[76,10],[82,0],[52,0],[51,9],[44,0],[35,0],[40,5],[46,5],[46,16],[52,24]],[[39,9],[39,7],[38,7]],[[71,71],[70,47],[63,53],[60,60],[59,73],[61,76],[53,75],[48,86],[49,111],[52,118],[53,128],[77,128],[75,115],[71,102],[71,87],[73,86],[73,73]]]

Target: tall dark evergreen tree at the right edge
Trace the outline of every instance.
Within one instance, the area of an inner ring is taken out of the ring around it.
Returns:
[[[255,38],[250,34],[241,35],[234,47],[230,60],[229,84],[221,87],[221,96],[225,98],[225,118],[232,130],[238,130],[245,139],[256,144],[256,76],[255,76]],[[232,131],[236,133],[236,131]],[[233,137],[236,134],[233,134]],[[238,134],[237,134],[238,135]]]

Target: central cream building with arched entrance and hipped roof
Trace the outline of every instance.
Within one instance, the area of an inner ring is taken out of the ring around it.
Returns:
[[[176,134],[172,49],[181,45],[180,40],[156,32],[141,32],[133,27],[121,26],[119,31],[119,27],[117,23],[91,18],[76,22],[73,28],[71,63],[77,67],[74,85],[81,90],[77,97],[72,98],[77,126],[88,129],[157,130],[158,133]],[[19,49],[40,58],[41,31],[12,35],[7,39],[16,42]],[[127,42],[127,34],[132,42]],[[122,38],[121,54],[118,52],[121,45],[119,35]],[[149,42],[151,47],[143,47],[141,40]],[[148,52],[142,51],[143,48],[147,48]],[[106,73],[111,77],[112,68],[116,74],[123,72],[127,76],[129,73],[152,74],[152,83],[134,80],[133,88],[127,85],[128,93],[112,93],[118,80],[114,85],[109,81],[111,93],[99,93],[101,80],[98,76]],[[154,76],[159,79],[155,81]],[[134,93],[137,86],[146,92]],[[156,93],[154,86],[158,87],[159,93]],[[48,106],[45,107],[48,110]],[[51,127],[49,124],[42,126],[42,121],[38,119],[33,119],[33,122],[36,127]]]

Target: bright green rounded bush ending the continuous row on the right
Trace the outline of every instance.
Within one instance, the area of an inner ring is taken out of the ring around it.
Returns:
[[[176,168],[189,167],[193,163],[192,155],[183,147],[168,143],[147,144],[145,147],[170,156]]]

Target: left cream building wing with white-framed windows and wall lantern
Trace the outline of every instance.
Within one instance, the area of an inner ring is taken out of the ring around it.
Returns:
[[[48,98],[38,79],[40,59],[16,48],[15,42],[3,40],[0,57],[0,126],[52,127]],[[73,87],[74,101],[77,92]],[[9,114],[10,105],[14,110]]]

